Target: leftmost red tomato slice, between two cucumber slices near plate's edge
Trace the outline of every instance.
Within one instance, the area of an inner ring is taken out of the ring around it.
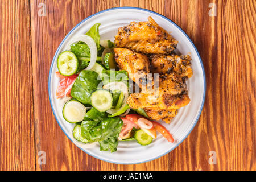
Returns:
[[[56,76],[61,78],[59,82],[59,86],[57,88],[56,96],[57,98],[61,98],[65,96],[65,90],[68,88],[69,85],[71,85],[77,78],[78,75],[72,75],[72,76],[63,76],[58,75],[59,73],[56,72]],[[67,92],[67,96],[70,96],[71,88]]]

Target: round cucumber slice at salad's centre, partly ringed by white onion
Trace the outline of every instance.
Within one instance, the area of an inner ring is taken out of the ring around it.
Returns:
[[[113,97],[107,90],[97,90],[90,96],[92,106],[100,112],[111,109]]]

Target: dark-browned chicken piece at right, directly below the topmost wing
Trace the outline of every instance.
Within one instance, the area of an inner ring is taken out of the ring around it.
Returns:
[[[191,57],[189,55],[151,55],[150,61],[152,73],[162,75],[176,72],[183,79],[190,78],[193,75]]]

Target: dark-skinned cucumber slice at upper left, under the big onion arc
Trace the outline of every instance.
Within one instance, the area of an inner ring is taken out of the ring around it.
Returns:
[[[61,75],[74,75],[79,69],[79,60],[77,60],[75,53],[71,51],[60,53],[57,59],[57,68]]]

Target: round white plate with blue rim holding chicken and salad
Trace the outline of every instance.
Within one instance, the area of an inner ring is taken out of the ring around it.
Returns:
[[[56,99],[56,89],[59,83],[59,78],[55,76],[57,71],[56,63],[57,56],[60,52],[64,51],[63,48],[72,36],[85,34],[90,27],[95,23],[101,23],[100,35],[101,39],[114,40],[114,36],[117,34],[118,28],[129,24],[130,22],[136,21],[147,21],[148,16],[152,18],[163,27],[171,35],[179,41],[177,51],[181,54],[191,54],[192,57],[192,69],[193,76],[187,81],[189,98],[191,102],[179,109],[179,114],[171,121],[170,125],[163,123],[164,126],[174,136],[176,143],[167,142],[162,135],[158,134],[158,137],[148,146],[140,146],[136,142],[119,142],[116,152],[105,152],[100,151],[98,144],[96,146],[90,146],[86,148],[85,145],[77,142],[72,136],[73,125],[64,120],[61,113],[62,108],[59,106],[59,100]],[[139,9],[134,7],[117,7],[108,9],[96,13],[88,18],[82,20],[75,28],[73,28],[68,35],[61,42],[57,49],[55,56],[52,60],[51,69],[49,72],[49,99],[51,102],[52,110],[55,115],[57,122],[65,135],[77,147],[81,148],[87,154],[94,156],[97,159],[105,160],[111,163],[118,164],[137,164],[148,162],[168,154],[168,152],[174,150],[192,131],[195,127],[197,120],[200,117],[201,110],[204,105],[205,97],[205,74],[204,67],[197,52],[196,47],[192,43],[191,39],[185,34],[179,26],[174,22],[167,19],[163,15],[155,13],[153,11]]]

